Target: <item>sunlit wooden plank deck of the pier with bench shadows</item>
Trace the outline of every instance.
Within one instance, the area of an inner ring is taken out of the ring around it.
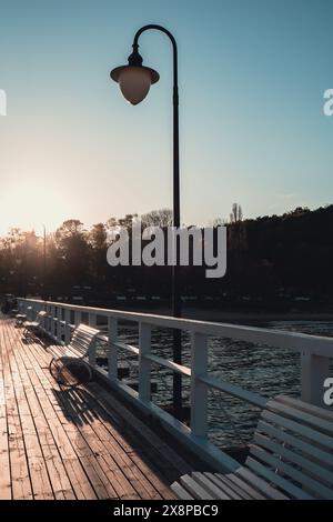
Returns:
[[[0,319],[0,499],[173,499],[191,466],[97,382],[61,389],[49,362]]]

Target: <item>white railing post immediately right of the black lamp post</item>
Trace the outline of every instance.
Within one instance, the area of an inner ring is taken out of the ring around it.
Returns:
[[[199,380],[208,370],[206,335],[193,332],[191,342],[191,431],[193,435],[208,435],[208,390]]]

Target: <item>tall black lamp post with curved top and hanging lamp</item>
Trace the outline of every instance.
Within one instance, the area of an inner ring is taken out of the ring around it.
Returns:
[[[179,175],[179,93],[178,93],[178,50],[176,42],[170,31],[161,26],[144,26],[134,36],[133,52],[129,57],[129,64],[118,67],[111,71],[112,80],[119,83],[124,98],[137,106],[148,94],[150,86],[159,81],[160,76],[153,69],[142,66],[142,57],[139,54],[139,38],[150,29],[158,30],[167,34],[173,49],[173,225],[180,227],[180,175]],[[176,249],[178,251],[178,249]],[[172,313],[173,317],[181,317],[181,301],[178,292],[178,259],[172,267]],[[173,360],[178,364],[182,362],[181,332],[173,330]],[[181,412],[182,394],[181,375],[173,374],[173,408],[175,414]]]

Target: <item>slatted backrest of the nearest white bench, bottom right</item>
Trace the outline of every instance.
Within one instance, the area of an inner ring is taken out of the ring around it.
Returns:
[[[333,413],[290,396],[268,402],[246,468],[295,499],[333,499]]]

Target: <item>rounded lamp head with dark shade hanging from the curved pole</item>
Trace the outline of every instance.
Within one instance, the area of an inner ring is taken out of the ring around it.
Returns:
[[[160,74],[142,66],[142,57],[139,54],[138,46],[133,46],[133,52],[129,57],[129,64],[113,69],[110,73],[112,80],[119,83],[123,97],[137,106],[149,93],[150,86],[159,81]]]

